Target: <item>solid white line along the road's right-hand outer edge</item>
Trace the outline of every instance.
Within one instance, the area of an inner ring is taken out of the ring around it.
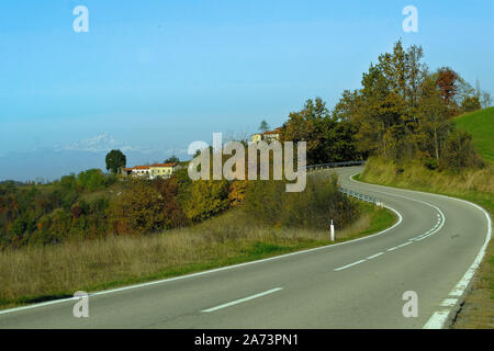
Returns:
[[[350,180],[356,183],[370,184],[370,185],[379,186],[379,188],[392,188],[392,186],[384,186],[384,185],[379,185],[379,184],[359,182],[359,181],[356,181],[352,179],[353,176],[350,177]],[[463,202],[465,204],[469,204],[469,205],[478,208],[485,215],[485,218],[487,219],[487,234],[485,236],[484,245],[481,247],[473,263],[469,267],[469,269],[467,270],[464,275],[460,279],[460,281],[457,283],[457,285],[449,293],[450,296],[460,296],[461,297],[464,294],[464,291],[467,290],[467,287],[469,286],[473,275],[475,274],[476,269],[481,264],[482,259],[485,256],[485,251],[487,249],[489,241],[491,241],[491,238],[492,238],[492,219],[491,219],[489,212],[485,211],[482,206],[480,206],[475,203],[472,203],[470,201],[463,200],[463,199],[451,197],[451,196],[442,195],[442,194],[426,193],[426,192],[416,191],[416,190],[401,189],[401,188],[392,188],[392,189],[402,190],[404,192],[416,192],[416,193],[427,194],[427,195],[431,195],[431,196],[445,197],[445,199]],[[441,328],[444,328],[446,321],[448,320],[449,313],[450,313],[449,309],[447,312],[445,312],[445,310],[435,312],[433,314],[433,316],[429,318],[429,320],[424,325],[424,329],[441,329]],[[446,316],[445,316],[445,314],[446,314]]]

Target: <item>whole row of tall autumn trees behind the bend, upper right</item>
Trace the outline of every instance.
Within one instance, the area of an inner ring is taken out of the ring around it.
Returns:
[[[420,159],[430,169],[482,167],[472,137],[456,131],[452,117],[491,105],[449,67],[431,71],[420,46],[395,43],[363,72],[360,89],[343,92],[329,112],[321,99],[290,114],[282,140],[306,140],[307,162]]]

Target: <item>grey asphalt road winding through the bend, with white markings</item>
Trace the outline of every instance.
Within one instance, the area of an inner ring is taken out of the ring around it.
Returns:
[[[75,301],[0,312],[0,328],[424,328],[441,327],[461,301],[490,237],[472,204],[357,183],[401,215],[366,239],[186,278],[98,293],[89,318]],[[472,265],[473,264],[473,265]],[[403,316],[405,292],[418,316]]]

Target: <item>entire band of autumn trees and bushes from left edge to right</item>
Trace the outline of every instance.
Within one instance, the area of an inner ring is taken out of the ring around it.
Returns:
[[[438,170],[483,167],[471,136],[456,131],[452,117],[490,105],[490,94],[479,83],[472,88],[451,68],[431,71],[423,57],[422,47],[405,49],[395,43],[392,53],[379,56],[362,75],[362,87],[344,91],[333,110],[315,98],[290,113],[280,140],[306,141],[308,165],[373,155],[395,161],[419,159]],[[263,121],[261,132],[268,128]],[[125,155],[112,150],[105,161],[109,173],[93,169],[48,184],[0,184],[0,249],[148,235],[238,206],[252,220],[281,226],[318,223],[326,228],[327,213],[340,213],[341,224],[358,216],[355,204],[337,192],[335,179],[312,179],[305,192],[285,194],[282,182],[191,181],[187,169],[170,179],[119,181]]]

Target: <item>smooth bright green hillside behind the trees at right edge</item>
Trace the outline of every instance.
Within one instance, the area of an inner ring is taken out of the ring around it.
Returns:
[[[494,163],[494,107],[465,113],[454,118],[459,129],[473,135],[473,144],[485,161]]]

